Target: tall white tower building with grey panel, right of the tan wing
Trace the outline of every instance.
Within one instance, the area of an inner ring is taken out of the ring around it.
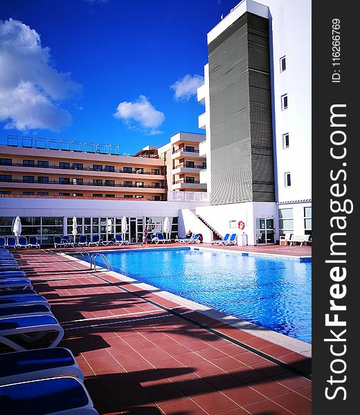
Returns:
[[[311,234],[311,46],[309,0],[243,0],[208,33],[211,206],[196,212],[222,235],[238,221],[250,245]]]

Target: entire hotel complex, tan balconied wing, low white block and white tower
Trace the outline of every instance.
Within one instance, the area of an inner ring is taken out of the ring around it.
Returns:
[[[243,0],[207,39],[197,91],[205,135],[177,133],[134,156],[87,143],[8,143],[1,233],[19,215],[24,232],[43,243],[71,233],[73,216],[79,234],[102,239],[127,216],[131,242],[141,241],[145,224],[161,232],[165,216],[172,237],[190,228],[205,242],[226,233],[240,245],[311,234],[311,2]]]

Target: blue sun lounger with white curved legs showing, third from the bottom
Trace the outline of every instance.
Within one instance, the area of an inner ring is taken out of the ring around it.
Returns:
[[[21,315],[20,317],[0,318],[0,344],[6,344],[16,351],[26,350],[26,347],[17,342],[17,336],[25,342],[33,343],[51,332],[55,332],[56,336],[48,347],[56,347],[62,340],[64,329],[52,315]]]

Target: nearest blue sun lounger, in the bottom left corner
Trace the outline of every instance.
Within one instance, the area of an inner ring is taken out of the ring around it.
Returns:
[[[0,407],[11,415],[98,415],[82,381],[69,376],[0,386]]]

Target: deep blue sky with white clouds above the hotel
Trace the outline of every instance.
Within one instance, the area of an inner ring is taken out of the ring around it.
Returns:
[[[204,133],[206,33],[237,0],[1,0],[0,139],[120,146]],[[12,19],[12,20],[10,20]]]

